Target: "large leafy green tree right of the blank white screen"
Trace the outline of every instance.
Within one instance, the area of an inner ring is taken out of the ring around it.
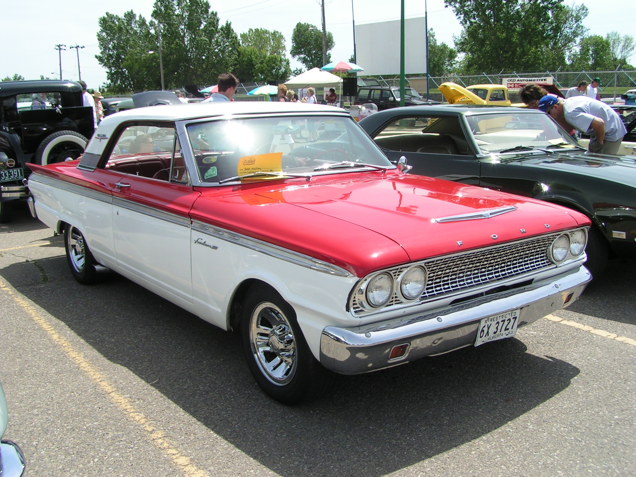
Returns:
[[[544,69],[574,50],[586,9],[563,0],[445,0],[464,28],[455,46],[466,73]],[[558,50],[551,52],[552,48]],[[551,54],[548,54],[551,53]]]

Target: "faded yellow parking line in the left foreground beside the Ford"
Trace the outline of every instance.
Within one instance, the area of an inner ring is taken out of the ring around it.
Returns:
[[[180,469],[186,477],[209,477],[207,472],[198,468],[191,462],[190,457],[186,456],[185,452],[177,448],[169,441],[169,439],[166,438],[165,432],[158,429],[158,427],[152,424],[148,417],[139,412],[128,397],[120,394],[120,392],[118,392],[115,387],[108,382],[107,378],[97,370],[93,363],[83,357],[81,352],[74,349],[73,345],[71,345],[64,336],[60,335],[60,333],[58,333],[55,328],[53,328],[53,326],[46,321],[41,314],[39,314],[36,307],[34,307],[29,301],[25,300],[25,298],[22,298],[18,292],[13,291],[10,287],[6,286],[2,280],[0,280],[0,289],[8,293],[9,296],[11,296],[11,298],[20,305],[20,307],[24,308],[25,312],[31,316],[33,321],[35,321],[40,328],[48,333],[53,342],[62,347],[71,361],[84,371],[86,375],[102,389],[102,391],[106,392],[111,401],[113,401],[113,403],[116,404],[116,406],[120,408],[120,410],[123,411],[128,418],[137,422],[137,424],[141,426],[141,428],[146,432],[148,440],[153,443],[156,448],[161,450],[166,457],[172,460],[172,463]]]

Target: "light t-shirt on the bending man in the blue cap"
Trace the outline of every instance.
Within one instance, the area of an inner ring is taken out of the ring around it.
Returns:
[[[587,96],[563,100],[563,114],[565,121],[593,139],[596,138],[596,134],[590,125],[594,118],[605,121],[605,141],[621,141],[627,134],[623,120],[614,109]]]

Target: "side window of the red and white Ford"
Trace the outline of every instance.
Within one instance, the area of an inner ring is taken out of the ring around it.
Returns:
[[[118,136],[106,169],[169,181],[172,155],[177,150],[180,156],[181,151],[175,137],[172,126],[128,126]]]

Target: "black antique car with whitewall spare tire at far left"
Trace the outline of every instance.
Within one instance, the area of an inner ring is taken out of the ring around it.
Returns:
[[[0,222],[6,202],[24,200],[26,162],[47,164],[75,159],[93,135],[93,110],[84,107],[74,81],[0,83]]]

